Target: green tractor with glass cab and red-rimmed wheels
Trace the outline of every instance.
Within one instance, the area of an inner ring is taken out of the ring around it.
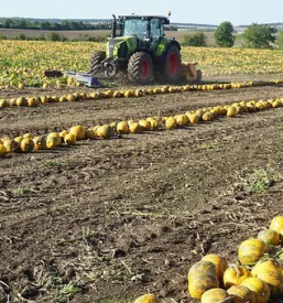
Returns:
[[[145,85],[154,78],[176,82],[181,76],[181,46],[164,37],[166,17],[120,15],[112,20],[107,51],[95,53],[89,74],[105,77],[128,75],[131,83]]]

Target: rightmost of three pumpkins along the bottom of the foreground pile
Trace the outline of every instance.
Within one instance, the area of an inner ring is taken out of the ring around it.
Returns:
[[[266,303],[270,300],[270,288],[269,285],[254,277],[247,278],[241,282],[242,286],[248,288],[254,293],[257,303]]]

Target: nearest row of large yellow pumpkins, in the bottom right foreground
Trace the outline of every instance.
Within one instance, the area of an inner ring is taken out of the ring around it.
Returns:
[[[283,297],[283,217],[238,248],[238,264],[219,255],[207,255],[188,271],[188,293],[202,303],[268,303]],[[134,303],[157,303],[144,294]],[[275,302],[275,301],[274,301]]]

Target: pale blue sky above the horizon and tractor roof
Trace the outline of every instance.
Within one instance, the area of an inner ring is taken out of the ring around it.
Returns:
[[[172,22],[235,26],[283,22],[283,0],[0,0],[0,17],[111,19],[119,14],[166,15]]]

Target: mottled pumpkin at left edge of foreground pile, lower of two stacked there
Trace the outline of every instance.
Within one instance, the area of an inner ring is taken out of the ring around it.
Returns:
[[[194,299],[200,300],[202,295],[211,289],[219,286],[218,279],[211,273],[197,273],[188,280],[188,292]]]

